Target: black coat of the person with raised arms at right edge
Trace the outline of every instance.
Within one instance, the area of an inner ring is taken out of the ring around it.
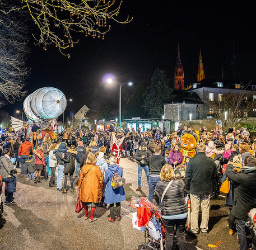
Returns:
[[[226,175],[238,184],[234,191],[231,214],[238,219],[247,220],[249,211],[256,207],[256,167],[242,167],[240,172],[235,173],[229,164]]]

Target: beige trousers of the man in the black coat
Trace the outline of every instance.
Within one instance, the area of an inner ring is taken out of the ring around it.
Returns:
[[[201,232],[207,233],[209,212],[210,212],[210,195],[192,195],[190,194],[191,201],[191,215],[190,224],[192,233],[198,233],[198,214],[199,207],[202,210]]]

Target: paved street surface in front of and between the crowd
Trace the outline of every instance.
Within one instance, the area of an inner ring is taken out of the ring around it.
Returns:
[[[84,212],[75,213],[77,190],[67,194],[48,186],[48,182],[35,184],[27,177],[18,176],[16,205],[4,206],[0,224],[0,249],[141,249],[144,234],[132,229],[129,202],[148,196],[145,172],[142,173],[142,189],[137,192],[137,164],[123,158],[120,161],[125,180],[127,199],[122,202],[122,220],[109,223],[109,211],[97,207],[96,221],[85,220]],[[4,195],[2,194],[4,197]],[[236,235],[229,236],[227,216],[229,209],[220,197],[211,200],[210,233],[192,239],[188,235],[188,249],[239,249]],[[198,248],[197,248],[197,247]]]

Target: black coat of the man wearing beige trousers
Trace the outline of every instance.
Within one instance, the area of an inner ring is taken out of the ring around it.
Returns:
[[[185,176],[187,191],[193,195],[210,195],[212,179],[217,177],[216,163],[206,153],[199,152],[190,159]]]

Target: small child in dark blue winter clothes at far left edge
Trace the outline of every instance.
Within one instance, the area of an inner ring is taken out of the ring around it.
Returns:
[[[13,193],[16,192],[16,185],[17,185],[17,171],[15,169],[12,169],[10,171],[10,174],[3,178],[3,181],[6,182],[7,185],[7,196],[6,200],[4,201],[4,204],[6,205],[14,205],[16,204],[15,201],[13,201]]]

